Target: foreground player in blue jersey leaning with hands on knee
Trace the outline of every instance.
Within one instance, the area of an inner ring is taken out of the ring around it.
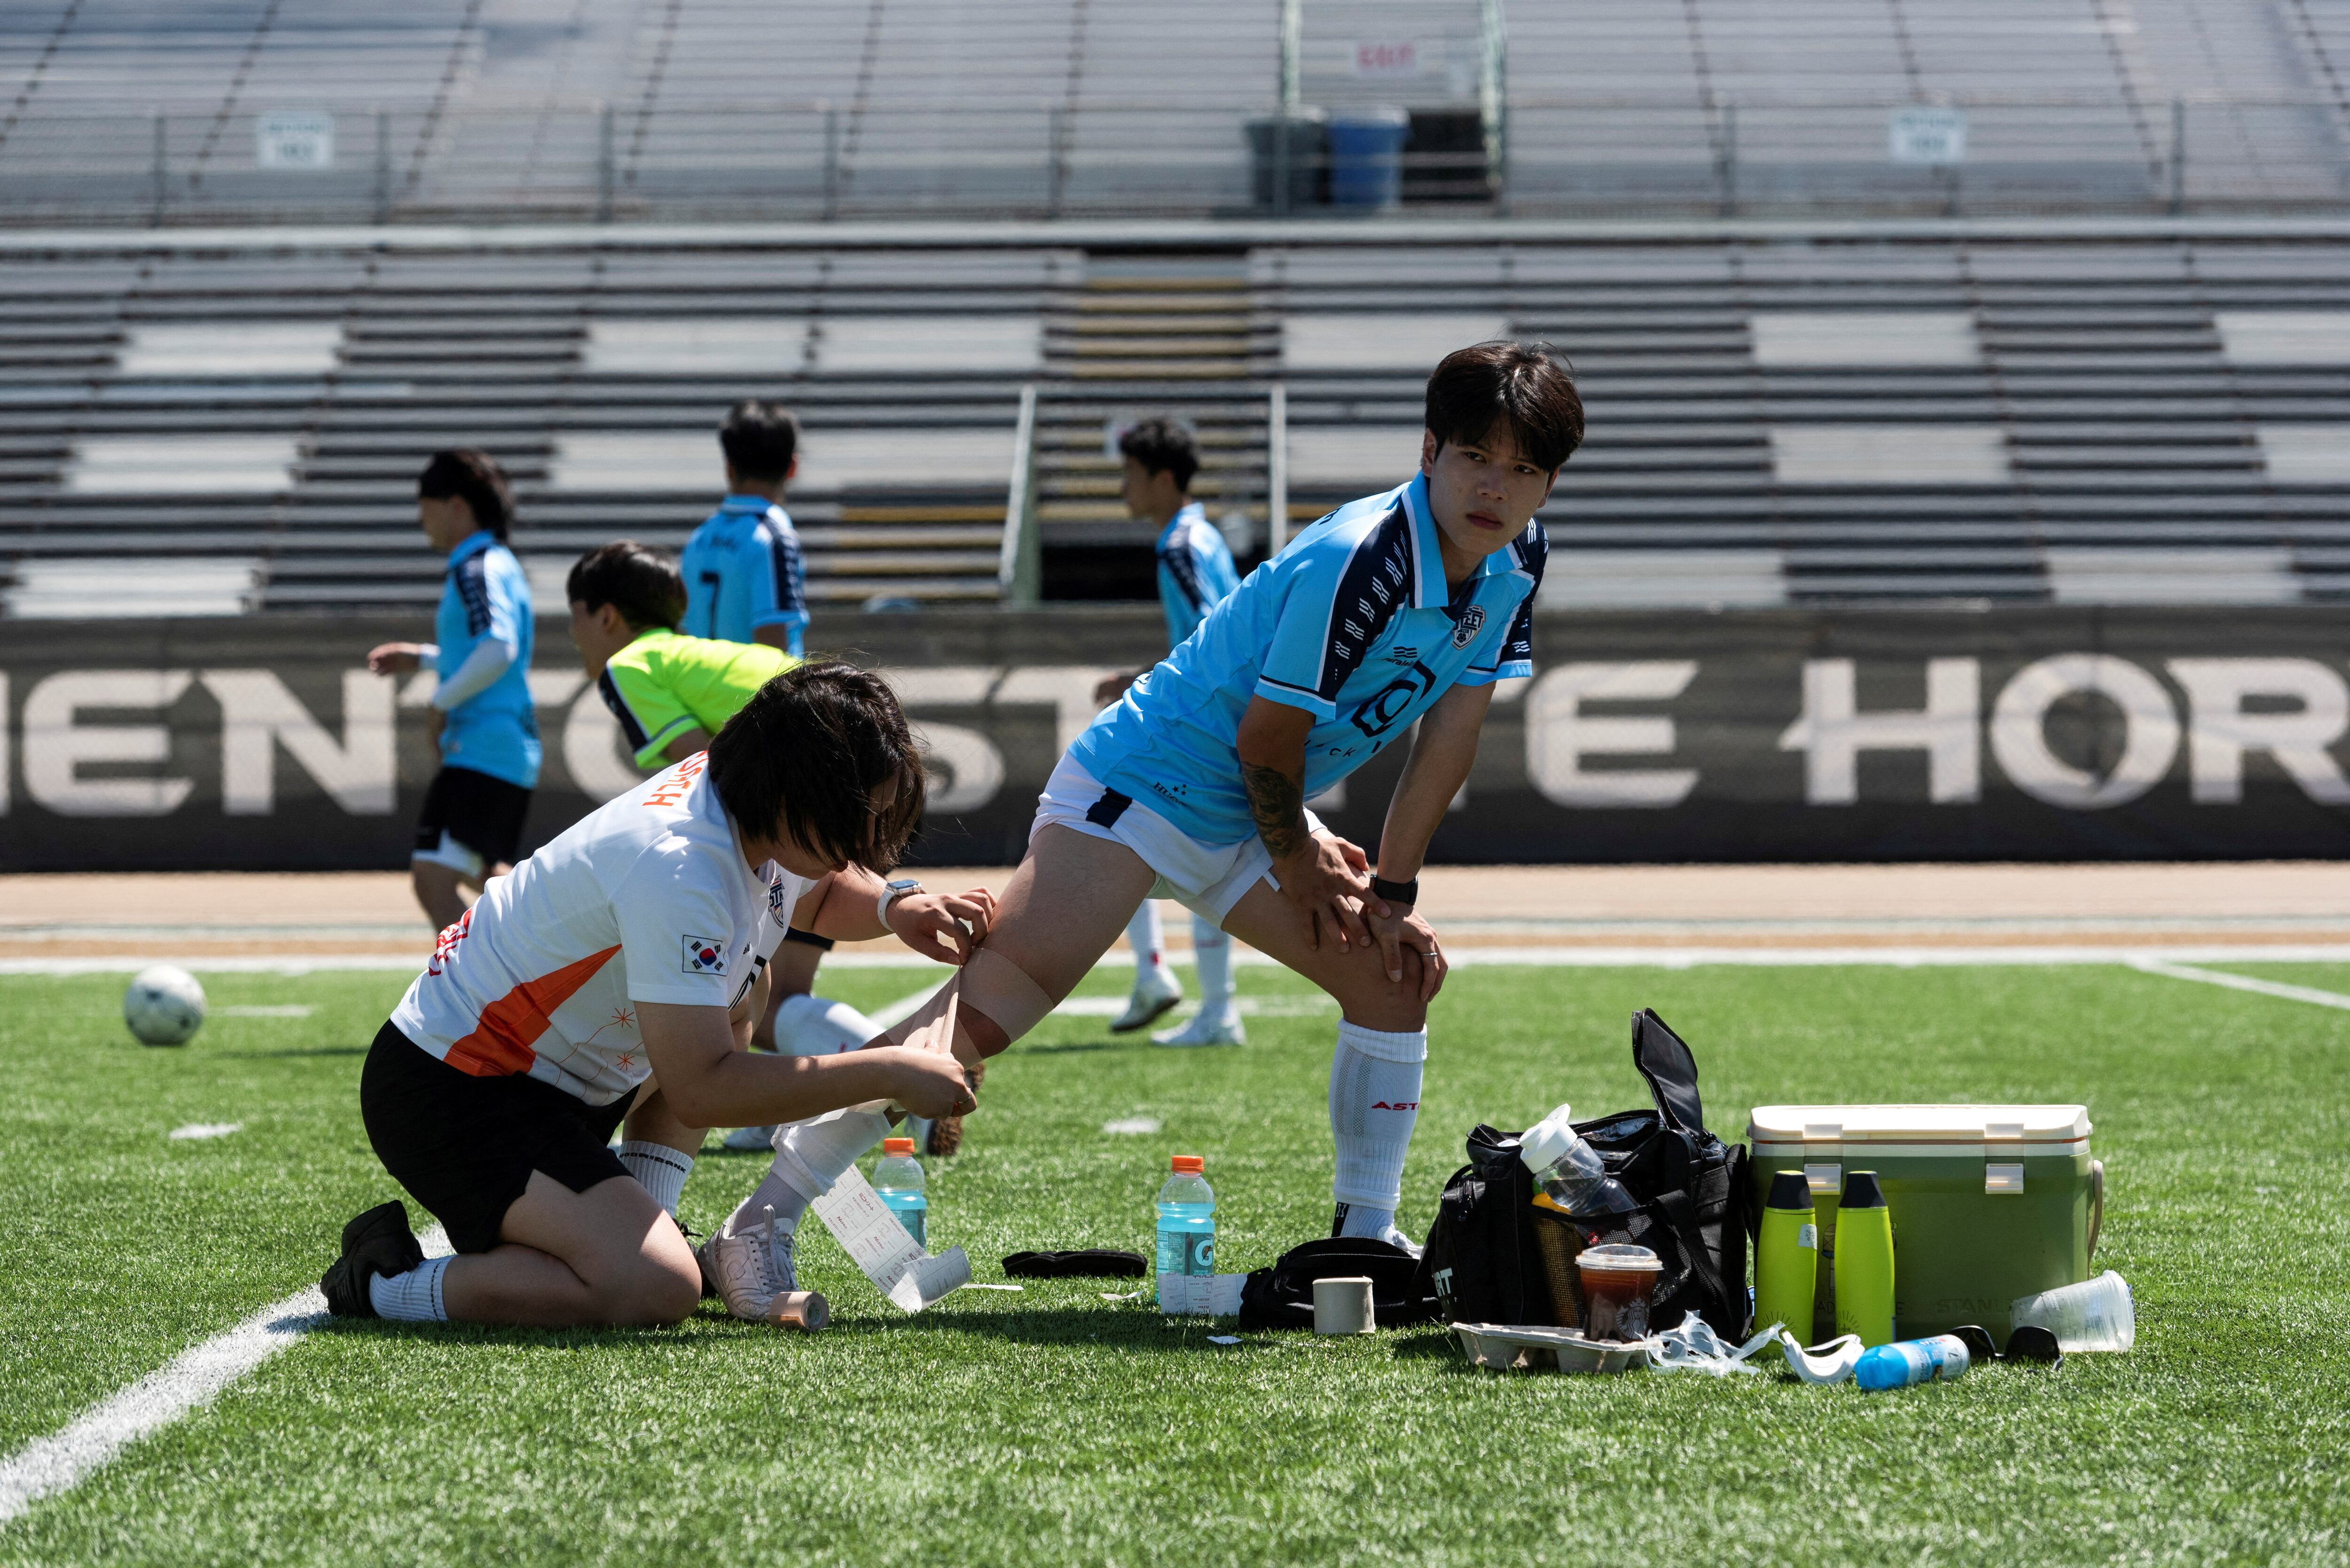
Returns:
[[[1093,721],[1046,784],[987,941],[884,1040],[959,995],[954,1049],[978,1066],[1163,892],[1337,998],[1335,1230],[1408,1246],[1394,1218],[1445,976],[1412,908],[1419,864],[1476,761],[1492,683],[1532,674],[1535,512],[1582,434],[1582,399],[1546,350],[1448,354],[1419,472],[1300,533]],[[1304,803],[1408,735],[1372,869]],[[830,1171],[841,1150],[785,1129],[783,1157]]]

